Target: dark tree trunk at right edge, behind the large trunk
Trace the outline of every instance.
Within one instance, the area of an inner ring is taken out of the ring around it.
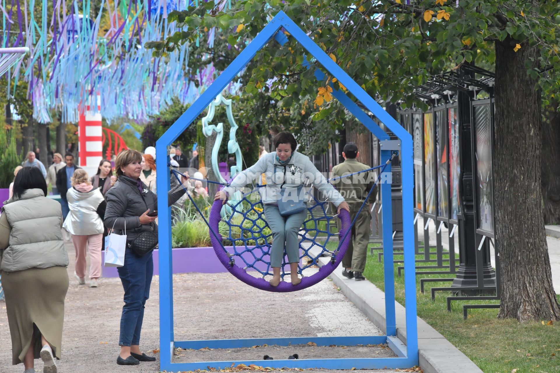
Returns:
[[[540,163],[540,186],[543,192],[544,224],[560,224],[560,113],[558,102],[552,102],[544,112],[543,154]]]

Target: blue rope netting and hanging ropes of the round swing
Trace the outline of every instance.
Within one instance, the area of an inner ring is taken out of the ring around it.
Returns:
[[[378,168],[382,168],[377,176],[377,180],[374,184],[377,185],[377,182],[381,179],[381,174],[385,171],[385,167],[393,160],[396,153],[393,153],[392,157],[385,163],[380,166],[371,167],[365,169],[360,172],[354,172],[351,174],[347,174],[340,177],[330,178],[328,180],[329,183],[332,181],[338,180],[343,177],[351,177],[356,174],[360,174],[363,172],[370,172]],[[179,171],[174,168],[171,168],[171,172],[175,175],[177,180],[180,182],[180,176],[184,176]],[[201,180],[198,178],[190,177],[192,180],[214,183],[222,186],[228,186],[229,183],[221,183],[216,181],[209,181],[209,180]],[[211,238],[216,238],[216,242],[219,243],[221,250],[227,254],[229,258],[228,265],[230,267],[240,267],[243,271],[247,270],[254,270],[264,278],[265,276],[272,276],[272,269],[270,267],[270,243],[272,242],[272,232],[267,224],[267,221],[264,217],[264,210],[263,204],[260,200],[260,195],[257,192],[259,187],[264,187],[265,185],[253,185],[253,188],[249,191],[244,193],[241,196],[241,199],[237,201],[235,204],[230,204],[230,202],[226,202],[232,210],[232,213],[226,218],[220,219],[220,223],[218,224],[217,232],[212,228],[212,225],[208,222],[207,218],[204,216],[202,211],[200,211],[197,204],[195,204],[192,196],[187,193],[190,201],[192,202],[195,209],[198,211],[204,223],[208,225],[209,234]],[[186,190],[186,187],[183,186]],[[331,227],[337,226],[337,218],[338,215],[329,215],[328,203],[326,201],[319,201],[313,193],[310,193],[311,188],[307,190],[307,196],[309,196],[307,205],[309,206],[310,203],[312,204],[310,207],[307,208],[307,218],[300,229],[299,236],[299,247],[300,247],[300,263],[298,265],[298,273],[304,277],[302,273],[307,268],[317,266],[319,267],[319,258],[321,256],[329,256],[331,258],[331,263],[334,264],[337,261],[337,256],[339,254],[344,254],[346,252],[346,247],[348,240],[346,239],[348,234],[352,231],[352,226],[356,222],[357,216],[360,215],[363,207],[366,205],[366,201],[369,199],[372,191],[374,191],[374,187],[367,193],[367,196],[360,207],[360,210],[352,220],[351,225],[348,229],[346,229],[346,233],[341,238],[339,237],[339,244],[337,248],[334,250],[329,250],[326,248],[326,245],[330,241],[333,236],[338,236],[339,232],[332,233]],[[219,203],[222,204],[222,201],[216,201],[214,204]],[[324,229],[321,227],[321,221],[325,221]],[[321,238],[319,240],[319,238]],[[343,245],[344,243],[344,245]],[[231,249],[226,248],[226,246],[231,245]],[[315,248],[320,248],[321,250],[316,250]],[[214,247],[214,249],[220,249]],[[311,250],[313,252],[311,252]],[[218,254],[218,251],[216,251]],[[227,259],[226,259],[227,260]],[[241,265],[242,263],[242,265]],[[227,263],[223,263],[225,266]],[[226,266],[227,268],[227,266]],[[282,262],[282,271],[281,276],[290,275],[289,271],[289,263],[287,262],[287,257],[284,255],[283,262]],[[284,270],[286,268],[286,270]],[[230,268],[227,268],[230,270]],[[334,269],[334,268],[333,268]],[[232,272],[232,271],[230,271]],[[233,273],[233,272],[232,272]],[[234,274],[235,275],[235,274]],[[268,284],[268,282],[267,282]],[[282,283],[281,283],[282,284]],[[253,284],[249,284],[254,286]],[[310,286],[310,285],[308,285]],[[259,286],[263,289],[263,286]],[[276,289],[276,288],[274,288]],[[264,289],[270,290],[272,289]],[[297,289],[294,289],[297,290]]]

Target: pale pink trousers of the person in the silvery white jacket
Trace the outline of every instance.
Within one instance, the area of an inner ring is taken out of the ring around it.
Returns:
[[[103,234],[72,235],[76,250],[76,275],[86,277],[86,247],[90,252],[90,278],[101,277],[101,246]]]

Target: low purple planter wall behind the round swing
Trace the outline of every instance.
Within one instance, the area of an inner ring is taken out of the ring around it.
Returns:
[[[226,246],[227,251],[233,252],[232,246]],[[221,273],[227,272],[226,268],[223,267],[222,263],[214,253],[213,247],[190,247],[190,248],[176,248],[172,251],[173,255],[173,273],[188,273],[188,272],[200,272],[200,273]],[[247,256],[247,261],[252,263],[255,259],[250,253],[245,253]],[[266,257],[268,260],[268,256]],[[240,259],[236,258],[236,263],[239,263]],[[105,251],[101,252],[101,263],[105,262]],[[153,274],[159,275],[160,273],[160,257],[158,251],[153,251]],[[263,262],[258,262],[256,267],[259,270],[265,271],[267,265]],[[254,271],[252,268],[250,271]],[[116,267],[105,267],[102,266],[102,276],[103,277],[119,277],[119,273],[116,271]]]

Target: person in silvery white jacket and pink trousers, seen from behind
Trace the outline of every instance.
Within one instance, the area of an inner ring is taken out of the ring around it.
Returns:
[[[107,203],[99,188],[91,185],[90,177],[81,168],[74,171],[72,188],[66,193],[70,213],[63,228],[72,234],[76,250],[74,276],[79,285],[86,283],[86,247],[90,252],[90,287],[97,287],[101,277],[101,248],[103,246],[103,219]]]

